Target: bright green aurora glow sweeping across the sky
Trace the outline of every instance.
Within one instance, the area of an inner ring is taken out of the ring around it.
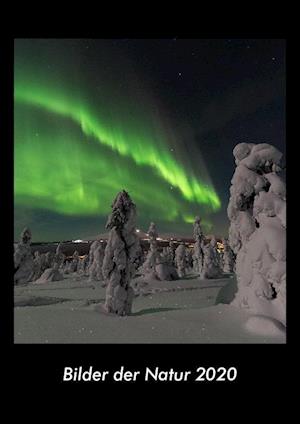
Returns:
[[[97,98],[89,89],[82,94],[82,81],[70,81],[65,69],[56,68],[57,82],[57,73],[55,77],[36,63],[26,68],[24,58],[22,64],[18,59],[16,55],[16,206],[104,216],[124,188],[149,220],[190,223],[197,205],[206,215],[220,209],[212,184],[171,154],[168,131],[160,120],[153,124],[155,116],[139,101],[133,104],[128,98],[127,110],[126,98],[119,98],[116,108],[109,83]]]

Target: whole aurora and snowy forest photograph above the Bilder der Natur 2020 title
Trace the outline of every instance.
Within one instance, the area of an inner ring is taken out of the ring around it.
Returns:
[[[286,343],[285,49],[15,39],[15,343]]]

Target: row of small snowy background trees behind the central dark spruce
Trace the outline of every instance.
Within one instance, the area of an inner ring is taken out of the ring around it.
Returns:
[[[123,197],[125,196],[123,193]],[[118,196],[121,196],[119,193]],[[120,197],[121,199],[123,197]],[[118,198],[118,197],[117,197]],[[115,203],[114,203],[115,204]],[[114,208],[120,206],[120,201],[116,202]],[[116,215],[114,211],[113,216]],[[119,213],[120,215],[120,213]],[[117,214],[117,216],[119,216]],[[124,218],[125,219],[125,218]],[[132,219],[132,218],[131,218]],[[109,218],[112,225],[113,217]],[[124,224],[125,225],[125,224]],[[128,227],[128,224],[126,228]],[[173,241],[169,242],[167,247],[159,251],[157,238],[158,232],[155,223],[151,222],[149,230],[149,250],[144,258],[143,250],[136,237],[135,255],[133,264],[135,271],[138,271],[146,279],[157,279],[161,281],[171,281],[178,278],[184,278],[187,273],[195,272],[203,278],[217,278],[221,275],[220,255],[216,249],[216,240],[213,238],[209,244],[205,245],[205,237],[201,229],[201,220],[196,217],[194,223],[195,247],[192,251],[183,243],[177,248]],[[136,236],[136,234],[135,234]],[[59,243],[56,252],[47,252],[40,254],[38,251],[31,254],[31,233],[29,229],[24,229],[21,234],[21,241],[15,247],[15,283],[22,284],[30,281],[43,283],[47,281],[62,280],[64,274],[77,273],[86,276],[90,282],[103,281],[103,285],[107,285],[107,269],[108,269],[108,251],[111,248],[111,239],[109,237],[107,248],[104,249],[103,242],[99,240],[93,241],[90,246],[89,254],[79,257],[78,251],[73,253],[71,258],[66,259],[63,253],[63,245]],[[225,272],[232,272],[230,265],[230,247],[227,246],[227,260]],[[121,251],[116,250],[117,255],[121,255]],[[109,259],[110,266],[114,260]]]

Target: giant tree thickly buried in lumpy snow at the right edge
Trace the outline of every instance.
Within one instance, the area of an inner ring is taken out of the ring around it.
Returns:
[[[286,325],[286,197],[277,175],[282,154],[269,144],[240,143],[233,155],[227,209],[237,255],[233,304]]]

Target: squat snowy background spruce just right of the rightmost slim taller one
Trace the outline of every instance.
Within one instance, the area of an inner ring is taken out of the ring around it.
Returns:
[[[222,275],[220,257],[217,251],[217,241],[212,237],[210,242],[201,244],[203,250],[203,266],[200,272],[201,278],[219,278]]]

